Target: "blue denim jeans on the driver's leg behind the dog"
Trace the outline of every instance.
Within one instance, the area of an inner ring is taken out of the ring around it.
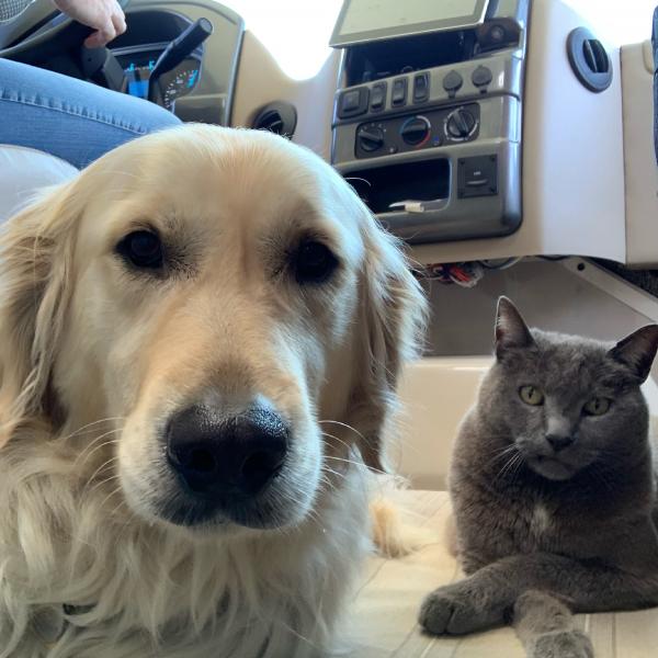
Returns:
[[[124,141],[180,123],[148,101],[0,58],[0,144],[81,169]]]

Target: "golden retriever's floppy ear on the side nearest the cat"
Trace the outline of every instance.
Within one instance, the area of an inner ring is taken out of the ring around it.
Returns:
[[[367,466],[386,470],[385,438],[397,407],[405,362],[419,354],[428,318],[426,296],[397,241],[368,216],[360,282],[359,363],[350,424],[361,434]]]

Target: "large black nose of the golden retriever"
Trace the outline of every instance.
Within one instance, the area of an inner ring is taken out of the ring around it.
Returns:
[[[287,424],[265,407],[228,419],[208,407],[189,407],[167,428],[169,463],[202,495],[256,496],[281,469],[287,445]]]

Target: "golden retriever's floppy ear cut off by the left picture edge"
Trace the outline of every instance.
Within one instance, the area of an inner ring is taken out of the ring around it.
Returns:
[[[11,218],[0,240],[0,447],[26,417],[47,412],[48,384],[70,295],[75,181]]]

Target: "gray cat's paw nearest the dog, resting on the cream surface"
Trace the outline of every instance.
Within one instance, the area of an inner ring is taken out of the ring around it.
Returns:
[[[420,608],[419,622],[434,635],[464,635],[503,622],[504,608],[467,581],[440,587]]]

